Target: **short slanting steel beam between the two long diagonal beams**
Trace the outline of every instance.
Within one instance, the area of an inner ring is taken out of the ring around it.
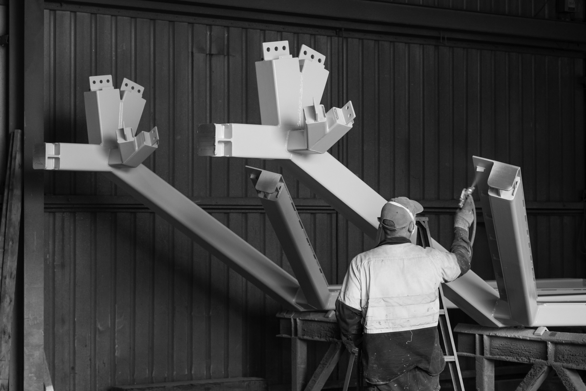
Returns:
[[[246,169],[307,302],[316,309],[334,309],[338,292],[329,291],[283,177],[260,168]]]

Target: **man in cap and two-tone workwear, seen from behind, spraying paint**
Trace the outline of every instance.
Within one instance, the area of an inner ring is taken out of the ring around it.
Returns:
[[[421,211],[407,197],[384,204],[380,241],[352,259],[336,301],[342,341],[350,352],[361,349],[370,391],[440,389],[445,362],[437,331],[438,288],[470,269],[474,212],[468,197],[455,215],[451,252],[445,252],[411,243]]]

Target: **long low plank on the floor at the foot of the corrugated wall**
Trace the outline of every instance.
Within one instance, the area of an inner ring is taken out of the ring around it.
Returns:
[[[185,382],[154,383],[113,387],[112,391],[267,391],[267,381],[261,377],[233,377],[231,379],[190,380]]]

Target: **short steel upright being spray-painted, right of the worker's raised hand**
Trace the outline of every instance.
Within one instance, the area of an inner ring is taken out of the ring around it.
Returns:
[[[478,173],[500,299],[509,305],[508,317],[512,321],[533,325],[537,316],[537,286],[521,169],[478,156],[472,159]]]

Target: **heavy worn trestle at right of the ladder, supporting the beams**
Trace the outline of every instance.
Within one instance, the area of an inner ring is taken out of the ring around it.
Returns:
[[[533,364],[517,390],[537,391],[551,369],[568,390],[585,390],[577,370],[586,370],[584,334],[550,332],[536,335],[534,329],[490,328],[459,324],[458,355],[475,358],[476,389],[494,391],[494,361]],[[521,353],[521,354],[520,354]]]

